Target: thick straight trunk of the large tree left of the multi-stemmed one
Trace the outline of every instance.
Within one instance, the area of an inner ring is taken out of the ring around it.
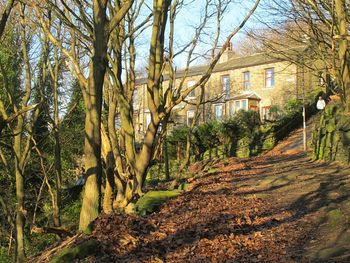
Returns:
[[[85,93],[85,172],[86,183],[80,212],[79,229],[85,230],[100,212],[101,199],[101,108],[104,75],[107,66],[106,6],[93,1],[93,56]]]

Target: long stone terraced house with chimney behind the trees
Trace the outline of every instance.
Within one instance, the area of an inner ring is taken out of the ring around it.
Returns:
[[[191,67],[184,80],[185,87],[194,85],[207,67]],[[176,72],[176,84],[183,80],[184,75],[184,70]],[[302,97],[302,80],[306,92],[318,85],[317,76],[283,58],[266,53],[240,57],[228,49],[204,87],[204,98],[209,102],[200,106],[199,122],[230,118],[241,109],[257,111],[262,120],[271,119],[272,107],[282,109],[287,101]],[[163,84],[166,86],[166,83],[165,75]],[[143,133],[150,122],[145,79],[138,79],[137,85],[134,95],[135,126]],[[196,88],[185,102],[174,108],[173,126],[192,123],[196,109],[194,104],[200,92],[200,88]]]

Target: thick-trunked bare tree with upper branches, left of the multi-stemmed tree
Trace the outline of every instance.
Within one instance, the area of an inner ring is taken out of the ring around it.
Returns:
[[[68,66],[78,79],[84,97],[86,109],[84,154],[87,181],[79,225],[79,228],[84,230],[100,211],[101,110],[107,67],[107,44],[111,32],[119,26],[133,0],[123,2],[94,0],[91,5],[80,0],[71,2],[60,0],[56,3],[45,1],[45,3],[58,17],[58,23],[63,22],[70,30],[70,34],[66,36],[69,45],[62,46],[62,42],[54,36],[47,19],[43,16],[41,3],[33,5],[45,34],[69,59],[71,64]],[[78,45],[82,45],[85,49],[87,68],[81,64],[77,53]]]

